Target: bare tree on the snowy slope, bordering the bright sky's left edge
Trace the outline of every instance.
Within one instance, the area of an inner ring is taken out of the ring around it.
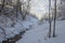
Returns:
[[[29,13],[29,9],[30,9],[30,0],[27,0],[24,4],[23,4],[23,11],[22,11],[22,13],[23,13],[23,20],[25,20],[25,18],[26,18],[26,14],[28,14]]]

